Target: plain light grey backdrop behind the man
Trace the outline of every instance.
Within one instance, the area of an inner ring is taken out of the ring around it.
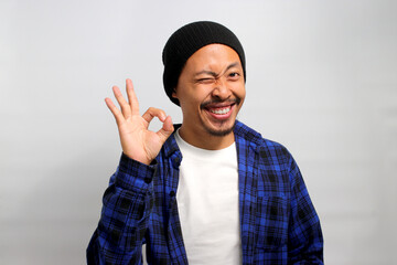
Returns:
[[[294,156],[325,263],[396,264],[396,13],[393,0],[2,0],[0,264],[85,264],[121,153],[104,98],[129,77],[141,112],[180,123],[161,52],[197,20],[243,43],[239,120]]]

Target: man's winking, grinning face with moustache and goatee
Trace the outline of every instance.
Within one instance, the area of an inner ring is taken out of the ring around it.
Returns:
[[[223,44],[200,49],[186,61],[173,96],[182,108],[185,134],[229,135],[245,98],[238,54]]]

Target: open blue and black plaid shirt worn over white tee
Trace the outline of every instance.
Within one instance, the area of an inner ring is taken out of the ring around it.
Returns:
[[[237,121],[243,264],[323,264],[320,221],[285,147]],[[187,264],[176,205],[181,151],[172,135],[151,166],[121,156],[88,264]]]

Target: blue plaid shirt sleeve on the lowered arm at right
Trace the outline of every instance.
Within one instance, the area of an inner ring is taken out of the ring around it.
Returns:
[[[323,264],[323,236],[319,216],[309,197],[296,161],[290,159],[291,215],[289,224],[289,263]]]

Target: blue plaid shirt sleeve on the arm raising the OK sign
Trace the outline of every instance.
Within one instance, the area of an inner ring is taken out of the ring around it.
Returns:
[[[154,171],[155,165],[121,155],[103,198],[101,216],[87,247],[87,264],[142,264]]]

